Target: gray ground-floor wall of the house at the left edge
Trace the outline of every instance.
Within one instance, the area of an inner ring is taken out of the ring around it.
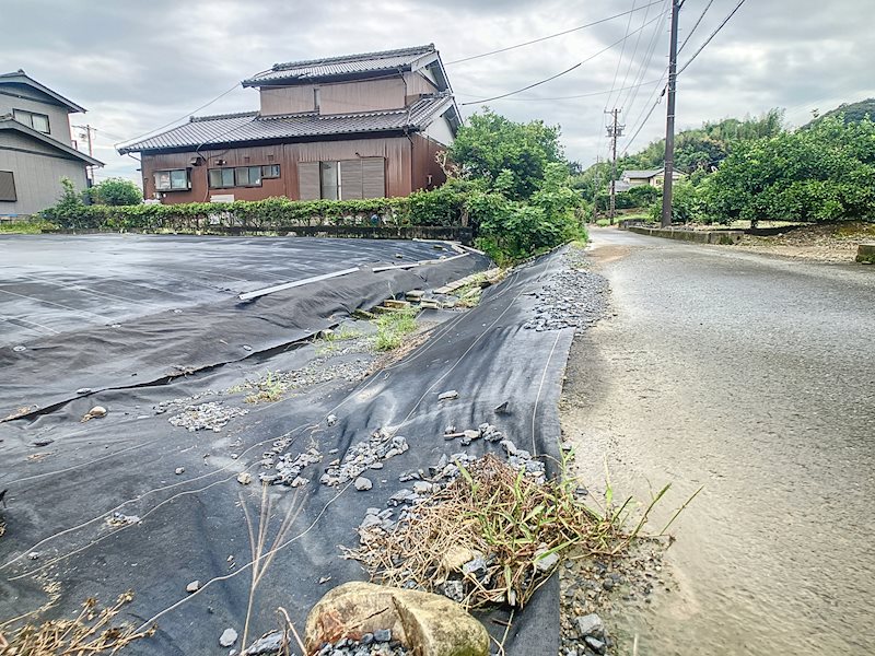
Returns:
[[[86,186],[85,164],[68,159],[57,149],[26,134],[0,131],[0,171],[11,171],[15,180],[14,202],[0,201],[0,216],[26,215],[51,207],[61,195],[61,178],[77,189]]]

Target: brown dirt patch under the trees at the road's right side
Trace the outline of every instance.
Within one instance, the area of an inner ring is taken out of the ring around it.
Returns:
[[[746,235],[735,248],[796,259],[851,262],[858,245],[873,239],[875,223],[848,222],[808,225],[769,237]]]

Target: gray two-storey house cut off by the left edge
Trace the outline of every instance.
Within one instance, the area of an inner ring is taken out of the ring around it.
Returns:
[[[24,71],[0,74],[0,216],[34,214],[58,201],[61,178],[88,186],[101,162],[72,145],[69,115],[84,112]]]

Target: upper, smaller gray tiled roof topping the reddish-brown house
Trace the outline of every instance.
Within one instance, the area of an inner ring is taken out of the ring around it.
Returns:
[[[410,66],[415,61],[433,52],[436,52],[434,44],[429,44],[399,50],[275,63],[269,71],[253,75],[248,80],[244,80],[242,84],[243,86],[260,86],[280,81],[312,81],[320,78],[397,71],[399,68],[410,70]]]

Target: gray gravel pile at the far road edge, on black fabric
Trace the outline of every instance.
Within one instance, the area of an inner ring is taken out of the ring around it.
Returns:
[[[528,330],[561,330],[594,324],[605,312],[608,282],[590,273],[583,254],[570,249],[561,270],[550,274],[534,296],[535,316],[523,324]]]

